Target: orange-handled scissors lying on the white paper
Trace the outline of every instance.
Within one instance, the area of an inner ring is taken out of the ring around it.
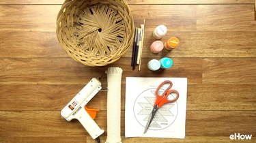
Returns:
[[[159,95],[159,90],[162,88],[162,86],[164,86],[165,84],[169,84],[169,86],[167,87],[167,89],[165,89],[165,91]],[[156,112],[158,111],[158,109],[160,109],[163,105],[167,104],[167,103],[173,103],[175,102],[178,98],[179,98],[179,93],[175,90],[170,90],[171,86],[173,86],[173,83],[169,80],[165,80],[164,82],[162,82],[158,88],[156,89],[156,101],[154,104],[154,108],[152,110],[152,114],[150,114],[148,121],[147,121],[147,125],[145,127],[144,133],[147,132],[147,129],[150,127],[150,123],[152,123],[154,116],[156,115]],[[176,97],[174,99],[170,99],[169,96],[172,97],[171,93],[176,93]],[[169,97],[169,98],[168,98]]]

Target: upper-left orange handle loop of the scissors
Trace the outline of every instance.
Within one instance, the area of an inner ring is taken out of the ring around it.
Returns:
[[[164,86],[165,84],[169,84],[169,86],[167,87],[167,89],[165,89],[165,91],[163,93],[161,93],[159,95],[159,90],[162,88],[162,86]],[[164,82],[162,82],[158,88],[156,89],[156,101],[154,106],[158,105],[160,103],[160,101],[162,101],[163,97],[165,97],[167,95],[167,92],[169,91],[169,89],[171,89],[171,86],[173,86],[173,82],[171,82],[170,80],[165,80]]]

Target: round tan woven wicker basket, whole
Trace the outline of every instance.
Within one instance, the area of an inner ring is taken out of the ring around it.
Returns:
[[[57,37],[72,59],[89,66],[117,61],[132,45],[134,22],[125,0],[66,0]]]

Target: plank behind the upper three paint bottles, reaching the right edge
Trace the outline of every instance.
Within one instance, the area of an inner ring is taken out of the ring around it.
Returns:
[[[146,26],[143,57],[256,57],[256,31],[175,31],[173,28],[169,28],[170,32],[161,41],[179,37],[179,48],[153,54],[150,51],[150,45],[156,41],[152,36],[153,27]],[[130,55],[131,49],[124,57]]]

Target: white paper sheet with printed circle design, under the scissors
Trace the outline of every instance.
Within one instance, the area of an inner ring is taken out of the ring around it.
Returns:
[[[153,110],[155,91],[165,80],[180,97],[158,110],[144,134],[147,119]],[[154,138],[185,138],[187,78],[126,77],[125,136]]]

